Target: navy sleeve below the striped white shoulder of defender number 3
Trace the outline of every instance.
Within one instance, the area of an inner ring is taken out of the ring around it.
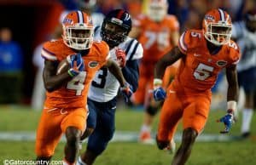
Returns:
[[[125,67],[122,68],[123,75],[125,80],[131,84],[133,92],[137,90],[138,86],[138,60],[127,60]]]

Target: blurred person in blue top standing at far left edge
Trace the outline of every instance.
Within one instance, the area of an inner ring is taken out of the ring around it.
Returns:
[[[0,29],[0,103],[19,103],[23,55],[8,27]]]

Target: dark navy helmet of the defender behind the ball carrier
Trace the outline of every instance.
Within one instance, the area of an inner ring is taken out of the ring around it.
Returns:
[[[113,48],[123,43],[131,31],[131,15],[124,9],[110,11],[102,23],[102,40]]]

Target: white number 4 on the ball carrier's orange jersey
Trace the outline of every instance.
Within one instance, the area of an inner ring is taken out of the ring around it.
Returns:
[[[76,95],[81,95],[84,89],[85,77],[86,72],[81,71],[78,76],[73,77],[73,79],[67,83],[67,88],[76,90]]]

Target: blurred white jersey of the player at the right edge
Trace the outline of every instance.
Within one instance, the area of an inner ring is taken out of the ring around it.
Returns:
[[[256,67],[256,33],[247,31],[245,22],[233,24],[232,37],[241,49],[241,60],[237,64],[237,71],[245,71]]]

